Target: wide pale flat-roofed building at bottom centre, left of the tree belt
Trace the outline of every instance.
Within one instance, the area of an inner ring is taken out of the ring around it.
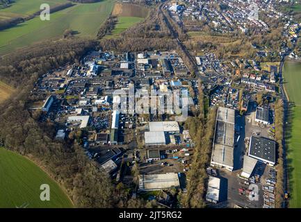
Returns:
[[[139,176],[139,191],[152,191],[179,187],[180,182],[178,173]]]

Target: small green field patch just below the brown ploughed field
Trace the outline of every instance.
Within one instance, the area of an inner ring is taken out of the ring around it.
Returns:
[[[144,18],[140,17],[118,17],[118,22],[113,29],[111,35],[107,35],[106,38],[118,37],[120,33],[127,30],[127,28],[133,26],[138,22],[143,22]]]

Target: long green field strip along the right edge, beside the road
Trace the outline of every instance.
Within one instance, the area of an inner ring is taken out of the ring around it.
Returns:
[[[301,63],[285,62],[284,87],[295,107],[289,115],[291,130],[286,133],[289,207],[301,207]]]

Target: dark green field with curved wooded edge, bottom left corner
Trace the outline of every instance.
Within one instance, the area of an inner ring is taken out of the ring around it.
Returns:
[[[50,187],[50,200],[40,200],[40,185]],[[0,147],[0,208],[73,207],[47,173],[22,155]]]

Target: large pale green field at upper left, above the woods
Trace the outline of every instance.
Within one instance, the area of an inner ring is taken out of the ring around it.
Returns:
[[[81,37],[95,37],[101,24],[113,9],[113,0],[77,4],[51,14],[50,21],[35,17],[13,28],[0,31],[0,54],[35,42],[62,37],[66,29],[77,31]]]

